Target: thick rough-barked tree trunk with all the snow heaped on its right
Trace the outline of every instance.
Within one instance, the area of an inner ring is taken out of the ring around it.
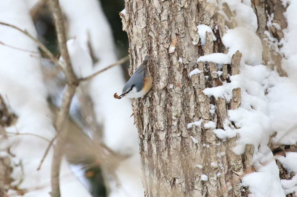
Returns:
[[[151,56],[153,87],[132,99],[146,196],[295,195],[297,154],[272,158],[297,141],[285,104],[297,96],[296,12],[296,1],[125,0],[130,74]]]

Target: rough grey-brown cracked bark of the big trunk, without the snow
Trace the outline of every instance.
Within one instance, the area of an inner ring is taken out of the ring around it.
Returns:
[[[228,12],[228,5],[225,7]],[[224,129],[228,121],[227,103],[203,93],[205,88],[230,82],[228,76],[239,73],[240,55],[235,58],[233,72],[230,64],[218,69],[214,62],[196,63],[199,56],[228,52],[221,40],[226,32],[225,19],[202,0],[125,0],[125,9],[126,15],[120,16],[130,43],[129,74],[146,54],[151,57],[151,91],[132,99],[145,196],[241,197],[239,183],[226,189],[243,174],[242,157],[232,151],[238,136],[223,142],[213,132]],[[199,24],[208,25],[217,40],[207,32],[206,43],[201,46]],[[195,68],[202,72],[190,77]],[[218,70],[223,71],[221,76]],[[215,113],[210,112],[213,105]],[[188,123],[199,120],[201,125],[188,128]]]

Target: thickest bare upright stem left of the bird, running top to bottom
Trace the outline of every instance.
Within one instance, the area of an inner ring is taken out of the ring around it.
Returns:
[[[79,80],[76,78],[72,66],[70,57],[67,50],[66,44],[66,35],[65,35],[65,27],[64,20],[62,17],[61,8],[59,5],[59,0],[50,0],[50,7],[53,12],[53,18],[55,21],[58,44],[61,56],[63,57],[63,62],[65,65],[64,75],[66,79],[66,86],[64,89],[62,104],[60,111],[57,117],[57,143],[54,148],[52,166],[51,166],[51,186],[52,186],[52,197],[60,197],[60,186],[59,186],[59,175],[60,175],[60,165],[61,159],[64,154],[64,148],[68,137],[68,129],[67,129],[67,118],[69,115],[70,104],[72,98],[75,94],[76,86],[79,84]]]

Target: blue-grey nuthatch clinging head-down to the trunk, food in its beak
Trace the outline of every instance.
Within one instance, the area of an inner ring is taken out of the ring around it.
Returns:
[[[139,98],[144,96],[151,89],[152,78],[148,69],[149,56],[147,55],[140,66],[135,70],[129,81],[123,88],[120,96],[113,95],[116,99],[121,99],[124,96],[128,98]]]

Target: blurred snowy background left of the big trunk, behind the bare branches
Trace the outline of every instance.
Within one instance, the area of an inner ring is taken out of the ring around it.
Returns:
[[[59,0],[59,2],[64,14],[67,40],[69,39],[67,47],[72,67],[74,70],[75,68],[79,70],[75,73],[77,77],[89,76],[128,55],[127,33],[122,30],[119,17],[119,12],[124,9],[124,0]],[[54,56],[60,57],[55,25],[47,0],[0,2],[0,21],[26,29],[32,35],[36,35]],[[18,159],[19,162],[18,165],[12,166],[14,173],[8,183],[13,185],[8,188],[17,191],[17,194],[12,191],[10,196],[18,196],[20,190],[26,191],[25,196],[48,195],[53,149],[50,149],[41,169],[37,171],[48,142],[44,143],[36,136],[40,135],[50,140],[55,134],[56,116],[66,84],[65,78],[42,51],[40,55],[30,52],[36,51],[37,47],[28,37],[3,25],[0,26],[0,32],[2,32],[0,75],[8,77],[8,79],[0,77],[0,96],[5,101],[1,102],[8,106],[9,98],[10,107],[7,108],[11,109],[8,111],[17,117],[17,120],[9,125],[0,124],[0,131],[3,126],[4,133],[6,132],[5,135],[0,133],[0,141],[8,141],[6,144],[10,144],[0,146],[0,158],[5,150],[6,157],[10,161],[15,163]],[[4,51],[8,55],[5,55]],[[5,69],[10,74],[7,74]],[[84,189],[79,186],[80,183],[75,182],[75,178],[69,178],[72,172],[94,197],[143,196],[138,134],[133,125],[133,116],[130,117],[132,114],[130,99],[113,98],[113,94],[121,92],[129,79],[128,69],[129,61],[126,61],[89,81],[80,83],[76,89],[68,120],[69,139],[65,155],[69,166],[65,162],[61,164],[60,185],[63,197],[89,195],[84,193]],[[25,77],[23,80],[20,78],[21,75]],[[21,87],[19,93],[22,93],[24,98],[14,90],[15,87]],[[31,93],[32,91],[34,93]],[[32,101],[32,98],[37,97],[41,104]],[[42,118],[37,121],[38,126],[29,123],[29,120],[36,122],[33,120],[34,117],[41,115]],[[27,134],[19,136],[18,132],[34,133],[35,137],[28,136],[28,139],[30,138],[28,143],[24,140]],[[12,138],[7,138],[8,134]],[[10,151],[10,148],[14,149]],[[34,154],[29,153],[27,149]],[[30,162],[22,164],[22,161]],[[72,172],[69,171],[69,167]],[[15,173],[17,169],[19,173]],[[1,187],[0,185],[0,196],[3,190]],[[39,193],[34,193],[35,191]]]

